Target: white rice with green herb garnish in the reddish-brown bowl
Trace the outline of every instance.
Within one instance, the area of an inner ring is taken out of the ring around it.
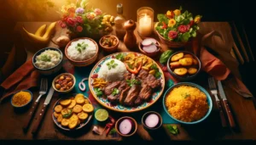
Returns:
[[[84,42],[85,44],[88,44],[88,47],[85,48],[85,50],[82,50],[81,53],[77,50],[76,46],[78,43]],[[72,42],[69,47],[67,47],[67,56],[70,59],[76,60],[76,61],[83,61],[86,59],[92,58],[96,54],[96,45],[94,42],[88,40],[88,39],[80,39],[78,41]]]

